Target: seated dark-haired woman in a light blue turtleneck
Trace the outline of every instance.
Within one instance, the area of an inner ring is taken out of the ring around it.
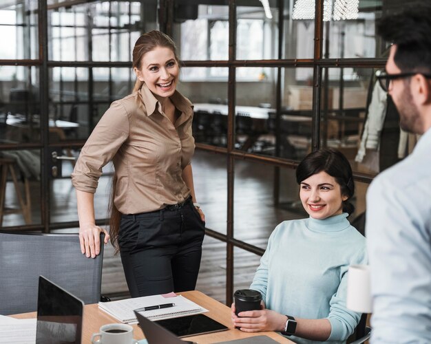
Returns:
[[[361,314],[346,308],[347,269],[366,264],[365,238],[346,217],[353,213],[352,169],[335,149],[310,153],[296,170],[302,206],[310,215],[279,224],[250,288],[262,310],[232,321],[244,332],[280,331],[297,343],[346,341]],[[293,335],[293,336],[291,336]]]

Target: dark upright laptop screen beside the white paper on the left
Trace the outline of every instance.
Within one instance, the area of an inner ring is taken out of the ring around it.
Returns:
[[[81,344],[84,303],[39,276],[36,344]]]

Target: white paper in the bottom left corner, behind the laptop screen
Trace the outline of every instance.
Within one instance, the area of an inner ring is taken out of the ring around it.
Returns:
[[[4,319],[9,318],[9,319]],[[36,343],[36,319],[14,319],[8,316],[0,318],[1,344]]]

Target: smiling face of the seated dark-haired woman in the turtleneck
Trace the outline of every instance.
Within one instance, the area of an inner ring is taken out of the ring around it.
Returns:
[[[326,219],[341,214],[348,197],[341,195],[341,188],[335,178],[321,171],[300,184],[299,198],[305,211],[313,219]]]

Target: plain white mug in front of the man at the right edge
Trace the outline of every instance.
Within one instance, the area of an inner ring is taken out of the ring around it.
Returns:
[[[368,265],[348,267],[346,306],[355,312],[372,312],[370,267]]]

